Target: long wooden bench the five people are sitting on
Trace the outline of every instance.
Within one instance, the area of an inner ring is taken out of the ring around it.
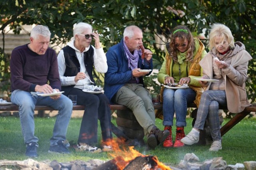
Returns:
[[[188,107],[196,108],[195,104],[188,104]],[[154,104],[155,109],[162,109],[162,104]],[[127,107],[122,105],[110,105],[110,109],[112,110],[128,110]],[[220,109],[228,110],[227,107],[220,107]],[[36,106],[36,111],[44,111],[44,110],[54,110],[52,107],[48,106]],[[84,110],[84,106],[73,106],[73,110]],[[18,106],[11,105],[0,105],[0,111],[18,111]],[[256,104],[252,106],[248,106],[241,113],[236,113],[236,115],[230,119],[225,125],[223,125],[220,129],[221,136],[227,133],[232,127],[234,127],[237,123],[239,123],[244,117],[246,117],[251,112],[256,112]]]

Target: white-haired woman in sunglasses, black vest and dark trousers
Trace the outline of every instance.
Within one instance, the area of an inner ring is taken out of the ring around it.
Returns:
[[[92,39],[95,47],[90,45]],[[78,137],[79,150],[93,153],[112,151],[109,100],[103,93],[82,91],[91,85],[96,86],[92,76],[93,67],[97,72],[105,73],[108,70],[106,62],[98,32],[93,32],[92,26],[83,22],[74,27],[71,41],[58,54],[61,90],[66,96],[77,95],[77,104],[85,106]],[[102,150],[94,146],[98,143],[98,119],[102,130]]]

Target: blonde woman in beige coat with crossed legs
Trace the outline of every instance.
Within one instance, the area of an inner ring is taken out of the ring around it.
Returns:
[[[241,42],[235,42],[228,27],[216,23],[210,31],[210,51],[200,61],[205,79],[215,82],[199,81],[207,86],[198,107],[196,122],[190,133],[181,142],[186,145],[198,143],[200,130],[204,129],[206,119],[209,121],[213,143],[210,151],[222,149],[219,106],[228,106],[232,113],[239,113],[248,102],[245,82],[247,80],[248,62],[252,59]]]

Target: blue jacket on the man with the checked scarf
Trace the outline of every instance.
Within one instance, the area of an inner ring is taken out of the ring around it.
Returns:
[[[108,71],[105,73],[104,94],[108,97],[109,101],[113,103],[112,98],[116,94],[116,92],[124,84],[128,83],[132,79],[132,70],[130,70],[130,68],[128,67],[128,59],[124,52],[123,39],[120,41],[120,43],[110,47],[110,49],[106,53],[106,57]],[[150,60],[150,62],[144,59],[143,65],[142,59],[141,57],[139,57],[138,68],[152,70],[152,59]],[[148,76],[149,74],[146,74],[146,76]],[[143,77],[139,77],[139,80],[144,86]]]

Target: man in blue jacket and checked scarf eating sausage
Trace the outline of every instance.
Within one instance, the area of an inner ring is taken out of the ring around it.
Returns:
[[[143,127],[147,144],[154,149],[169,135],[155,126],[155,113],[150,92],[144,88],[143,76],[153,69],[152,52],[142,47],[142,30],[131,25],[124,29],[124,38],[106,53],[108,71],[105,73],[104,90],[110,102],[132,110]],[[144,55],[142,55],[144,53]]]

